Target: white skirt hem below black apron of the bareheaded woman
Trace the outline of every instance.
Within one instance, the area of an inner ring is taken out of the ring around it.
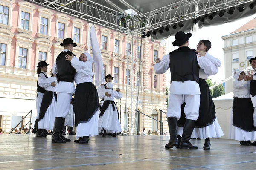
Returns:
[[[182,133],[183,133],[183,127],[178,127],[178,134],[182,136]],[[209,126],[202,127],[202,128],[194,128],[191,138],[206,139],[206,138],[218,138],[221,136],[224,136],[224,134],[216,118],[215,121]]]

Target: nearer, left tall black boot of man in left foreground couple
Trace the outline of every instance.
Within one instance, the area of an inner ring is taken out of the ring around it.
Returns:
[[[54,127],[53,127],[53,134],[52,134],[52,142],[66,143],[66,141],[62,140],[62,138],[60,137],[62,121],[63,121],[62,117],[56,117],[55,118]],[[62,130],[63,130],[63,127],[62,127]]]

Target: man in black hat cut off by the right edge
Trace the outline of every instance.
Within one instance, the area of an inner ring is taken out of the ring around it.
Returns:
[[[253,125],[256,127],[256,57],[251,58],[249,62],[252,65],[254,72],[253,74],[249,73],[247,76],[245,76],[244,80],[250,81],[250,98],[252,100],[253,107],[254,107]],[[254,141],[250,145],[256,146],[256,141]]]

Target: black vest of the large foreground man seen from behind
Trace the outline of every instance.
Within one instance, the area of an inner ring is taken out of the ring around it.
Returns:
[[[170,70],[172,81],[195,81],[199,84],[199,65],[195,49],[180,47],[170,52]]]

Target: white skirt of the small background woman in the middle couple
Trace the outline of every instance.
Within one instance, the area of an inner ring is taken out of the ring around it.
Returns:
[[[122,131],[121,124],[118,120],[118,112],[115,106],[115,111],[110,104],[108,109],[104,112],[103,116],[99,118],[98,130],[99,133],[105,129],[107,133],[119,133]]]

